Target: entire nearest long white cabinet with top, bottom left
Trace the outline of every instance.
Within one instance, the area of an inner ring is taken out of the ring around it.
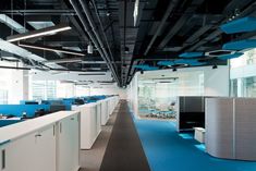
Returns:
[[[1,171],[77,171],[78,112],[60,111],[0,129]]]

